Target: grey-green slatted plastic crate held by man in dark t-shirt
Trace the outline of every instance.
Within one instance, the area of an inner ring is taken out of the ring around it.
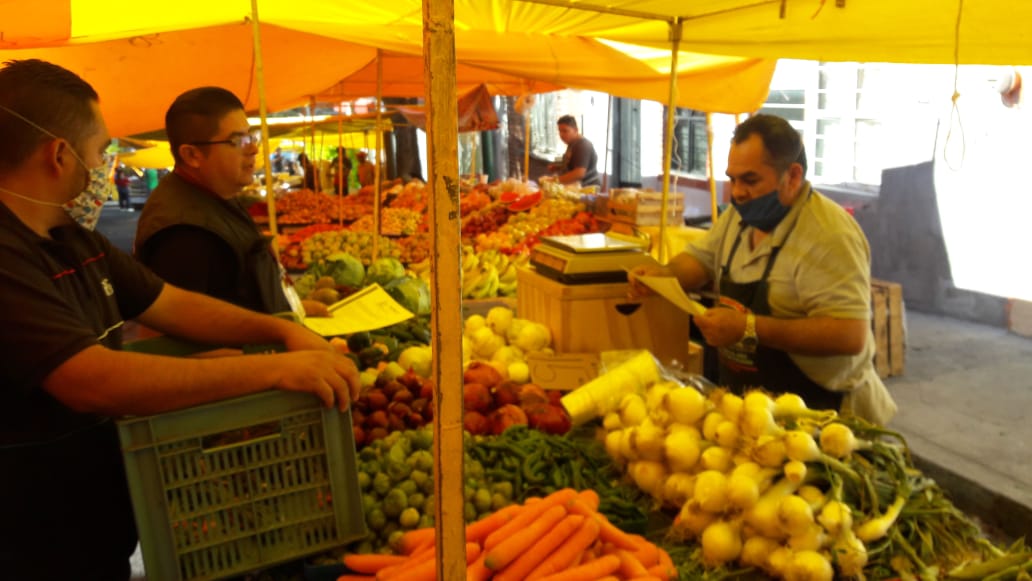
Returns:
[[[118,425],[151,581],[219,579],[365,534],[350,411],[270,390]]]

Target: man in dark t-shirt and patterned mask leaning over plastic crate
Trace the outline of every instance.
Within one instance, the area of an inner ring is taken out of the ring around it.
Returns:
[[[0,66],[0,578],[125,581],[136,545],[111,418],[267,389],[346,407],[355,365],[304,327],[166,284],[65,204],[110,143],[96,91],[39,60]],[[121,350],[136,319],[206,345],[288,353],[209,359]],[[55,558],[60,555],[60,558]]]

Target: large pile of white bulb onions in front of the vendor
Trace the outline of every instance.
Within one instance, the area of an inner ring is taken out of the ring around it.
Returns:
[[[788,580],[830,581],[836,572],[862,576],[865,543],[886,535],[904,499],[853,522],[840,488],[807,478],[818,463],[837,478],[859,478],[842,460],[869,443],[836,418],[795,394],[707,396],[657,382],[625,395],[603,425],[610,456],[639,487],[680,509],[674,528],[701,542],[707,566],[738,561]]]

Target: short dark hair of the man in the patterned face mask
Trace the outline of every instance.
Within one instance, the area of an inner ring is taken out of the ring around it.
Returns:
[[[38,59],[5,62],[0,68],[0,169],[18,167],[51,139],[25,119],[68,139],[82,155],[97,129],[92,105],[99,100],[93,87],[68,69]]]

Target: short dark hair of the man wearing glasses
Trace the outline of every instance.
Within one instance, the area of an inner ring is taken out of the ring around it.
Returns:
[[[175,163],[183,161],[180,146],[211,140],[222,118],[235,110],[244,110],[244,103],[221,87],[198,87],[176,97],[165,112],[165,134]]]

